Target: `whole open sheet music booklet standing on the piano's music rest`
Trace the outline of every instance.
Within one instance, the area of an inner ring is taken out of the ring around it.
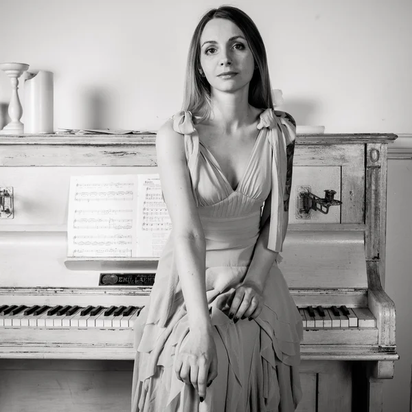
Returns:
[[[71,176],[69,257],[159,257],[171,227],[158,174]]]

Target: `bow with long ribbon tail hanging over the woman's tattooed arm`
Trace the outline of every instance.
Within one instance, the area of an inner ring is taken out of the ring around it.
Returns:
[[[258,129],[268,128],[268,139],[272,146],[271,223],[267,248],[275,252],[282,252],[284,218],[287,212],[284,210],[284,200],[288,196],[286,193],[286,174],[288,172],[286,146],[295,141],[296,126],[293,117],[288,113],[267,108],[260,115],[257,127]]]

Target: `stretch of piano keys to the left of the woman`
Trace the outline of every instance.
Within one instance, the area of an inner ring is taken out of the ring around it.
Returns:
[[[143,306],[1,305],[0,327],[132,328]]]

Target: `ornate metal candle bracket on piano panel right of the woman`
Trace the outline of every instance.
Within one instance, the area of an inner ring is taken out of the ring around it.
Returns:
[[[310,210],[328,214],[330,206],[341,205],[341,201],[334,199],[334,190],[325,190],[325,198],[320,198],[310,192],[310,186],[297,187],[297,218],[310,219]]]

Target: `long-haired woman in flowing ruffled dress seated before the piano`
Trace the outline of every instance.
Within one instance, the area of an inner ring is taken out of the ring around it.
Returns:
[[[183,111],[157,134],[172,233],[135,324],[132,411],[293,411],[301,398],[301,317],[277,267],[295,122],[271,107],[253,21],[207,12]]]

